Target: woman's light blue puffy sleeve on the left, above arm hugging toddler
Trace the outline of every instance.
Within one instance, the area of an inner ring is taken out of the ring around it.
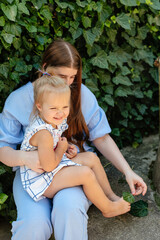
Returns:
[[[0,113],[0,147],[10,146],[16,149],[23,140],[24,128],[28,125],[32,111],[33,94],[31,83],[12,92],[6,99]]]

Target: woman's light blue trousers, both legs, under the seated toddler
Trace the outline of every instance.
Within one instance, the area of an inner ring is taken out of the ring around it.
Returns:
[[[52,226],[56,240],[87,240],[87,211],[91,205],[81,187],[59,191],[52,200],[35,202],[23,189],[19,170],[13,183],[17,220],[12,240],[48,240]]]

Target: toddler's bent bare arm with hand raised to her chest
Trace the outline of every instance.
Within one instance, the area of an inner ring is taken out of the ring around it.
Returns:
[[[57,148],[53,149],[53,137],[46,130],[40,130],[30,139],[30,144],[38,147],[38,157],[44,171],[50,172],[54,170],[60,163],[63,154],[68,148],[68,142],[65,137],[61,137]]]

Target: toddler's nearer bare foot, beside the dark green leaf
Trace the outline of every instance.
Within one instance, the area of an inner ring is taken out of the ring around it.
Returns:
[[[123,200],[123,198],[120,198],[116,202],[112,202],[111,206],[109,207],[109,210],[107,212],[103,212],[104,217],[115,217],[124,213],[127,213],[130,211],[130,203]]]

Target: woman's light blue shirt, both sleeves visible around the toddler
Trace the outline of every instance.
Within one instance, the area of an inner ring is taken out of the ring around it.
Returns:
[[[0,113],[0,147],[16,149],[21,144],[33,108],[33,85],[28,82],[13,91],[7,98],[3,112]],[[111,132],[106,115],[94,94],[82,84],[82,113],[89,129],[89,140],[102,137]]]

